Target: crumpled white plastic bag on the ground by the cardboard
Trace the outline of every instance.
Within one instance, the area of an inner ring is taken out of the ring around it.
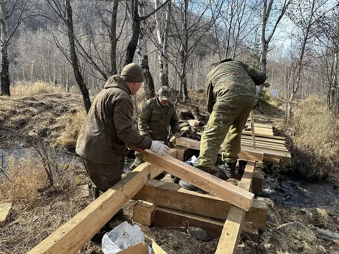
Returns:
[[[104,254],[116,254],[144,241],[144,233],[138,225],[131,226],[123,222],[104,235],[101,247]]]

